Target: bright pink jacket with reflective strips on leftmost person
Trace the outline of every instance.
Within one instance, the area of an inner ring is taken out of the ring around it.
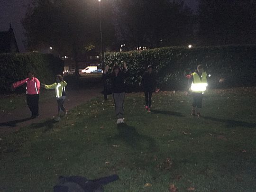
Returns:
[[[17,88],[17,87],[23,85],[25,82],[27,83],[26,89],[27,89],[28,95],[36,95],[36,94],[40,93],[40,82],[36,77],[33,77],[31,80],[29,80],[27,78],[27,79],[15,82],[12,84],[12,86],[14,88]]]

